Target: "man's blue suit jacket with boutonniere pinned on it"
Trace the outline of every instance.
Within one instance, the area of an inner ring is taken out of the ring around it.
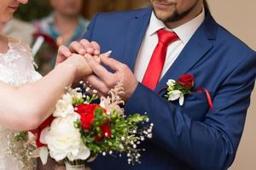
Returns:
[[[102,52],[134,70],[137,53],[148,28],[152,8],[96,14],[84,38],[99,42]],[[155,92],[168,79],[184,73],[195,76],[195,88],[207,88],[214,110],[209,110],[204,93],[185,97],[184,105],[169,102]],[[127,165],[126,157],[98,156],[92,169],[227,169],[236,156],[250,94],[256,75],[256,54],[246,44],[219,26],[211,14],[154,92],[137,86],[125,105],[126,113],[148,112],[154,122],[154,137],[143,147],[142,163]]]

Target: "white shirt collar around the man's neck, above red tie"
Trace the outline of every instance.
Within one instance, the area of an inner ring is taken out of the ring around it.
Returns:
[[[148,26],[148,36],[154,35],[156,31],[159,31],[162,28],[165,28],[169,31],[174,31],[179,39],[186,44],[189,42],[189,39],[193,36],[195,31],[201,26],[201,23],[205,20],[205,9],[202,8],[201,14],[197,15],[193,20],[189,20],[189,22],[184,23],[182,26],[178,26],[173,29],[169,29],[163,23],[163,21],[156,18],[154,12],[151,14],[149,26]]]

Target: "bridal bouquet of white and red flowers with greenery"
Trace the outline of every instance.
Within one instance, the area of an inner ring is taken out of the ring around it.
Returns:
[[[86,161],[102,154],[126,155],[129,164],[140,162],[138,144],[152,138],[153,124],[148,116],[125,116],[119,105],[122,82],[95,104],[96,94],[85,95],[80,88],[67,88],[55,111],[36,131],[37,146],[43,163],[50,156],[65,161],[67,169],[83,169]]]

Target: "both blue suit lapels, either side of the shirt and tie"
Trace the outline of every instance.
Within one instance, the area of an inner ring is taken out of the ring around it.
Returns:
[[[128,26],[125,38],[124,61],[131,71],[134,71],[137,54],[147,31],[151,13],[152,8],[146,8],[142,13],[134,15]],[[154,91],[158,92],[161,88],[165,88],[166,82],[170,78],[177,80],[178,77],[188,72],[193,65],[207,54],[212,48],[212,40],[215,40],[216,32],[217,23],[212,19],[212,15],[206,11],[206,19],[198,30],[195,31],[195,34],[166,72],[166,75],[161,78]]]

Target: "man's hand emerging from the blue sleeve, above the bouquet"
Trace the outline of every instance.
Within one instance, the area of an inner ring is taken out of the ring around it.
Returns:
[[[85,54],[85,59],[95,73],[95,75],[87,77],[87,81],[93,88],[96,88],[100,94],[108,95],[109,90],[122,80],[125,94],[121,97],[125,101],[131,97],[131,94],[133,94],[134,90],[137,88],[138,82],[127,65],[120,63],[116,59],[106,56],[101,57],[102,64],[108,65],[114,71],[114,73],[112,73],[100,65],[90,54]]]

